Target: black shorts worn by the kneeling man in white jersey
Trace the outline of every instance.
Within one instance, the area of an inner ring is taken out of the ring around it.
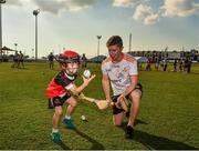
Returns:
[[[143,85],[142,85],[140,83],[137,83],[137,85],[136,85],[136,88],[135,88],[134,90],[136,90],[136,89],[140,90],[140,92],[143,93]],[[121,95],[121,94],[119,94],[119,95]],[[113,97],[112,97],[113,102],[117,102],[117,98],[118,98],[119,95],[113,95]],[[126,95],[126,99],[129,99],[129,95]],[[121,112],[124,112],[124,110],[117,108],[117,107],[114,104],[114,105],[113,105],[113,114],[118,114],[118,113],[121,113]]]

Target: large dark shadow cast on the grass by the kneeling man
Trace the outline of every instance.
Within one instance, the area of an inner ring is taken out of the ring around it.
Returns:
[[[136,121],[137,121],[137,124],[138,123],[147,124],[146,122],[144,122],[142,120],[136,120]],[[127,123],[123,123],[123,125],[119,128],[125,131],[126,124]],[[157,137],[154,134],[149,134],[147,132],[139,131],[139,130],[134,131],[133,140],[144,144],[147,149],[155,149],[155,150],[198,150],[197,148],[188,145],[186,143],[169,140],[169,139],[163,138],[163,137]]]

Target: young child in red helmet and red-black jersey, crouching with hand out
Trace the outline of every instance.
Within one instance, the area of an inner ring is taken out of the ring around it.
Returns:
[[[77,95],[82,92],[95,78],[95,76],[92,76],[88,79],[83,77],[83,83],[80,87],[74,84],[80,66],[80,56],[74,51],[64,51],[60,54],[57,61],[60,62],[61,71],[52,79],[46,89],[49,108],[55,109],[52,128],[52,140],[54,142],[61,141],[59,124],[63,112],[62,105],[64,103],[69,104],[62,123],[69,129],[74,129],[75,127],[72,122],[71,115],[77,103],[72,95]]]

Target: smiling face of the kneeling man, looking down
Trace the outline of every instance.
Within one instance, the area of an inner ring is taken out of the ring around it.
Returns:
[[[107,47],[107,49],[108,49],[109,57],[112,58],[113,61],[121,60],[123,47],[121,48],[118,46],[109,46]]]

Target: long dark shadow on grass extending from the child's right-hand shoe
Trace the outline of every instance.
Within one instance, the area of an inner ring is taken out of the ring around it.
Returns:
[[[74,129],[74,131],[81,135],[82,138],[88,140],[92,143],[91,149],[88,150],[104,150],[104,145],[102,145],[100,142],[97,142],[96,140],[92,139],[91,137],[86,135],[85,133],[78,131],[77,129]]]

